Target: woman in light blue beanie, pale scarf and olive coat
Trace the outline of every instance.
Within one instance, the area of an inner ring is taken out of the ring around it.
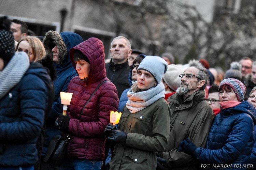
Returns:
[[[155,152],[165,151],[170,133],[171,111],[161,82],[166,71],[167,62],[160,57],[146,56],[140,63],[118,129],[112,124],[105,128],[107,139],[117,143],[111,170],[156,169]]]

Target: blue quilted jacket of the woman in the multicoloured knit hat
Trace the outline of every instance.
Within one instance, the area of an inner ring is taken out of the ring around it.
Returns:
[[[197,148],[194,156],[213,169],[218,164],[228,165],[225,169],[245,169],[254,145],[255,113],[247,101],[222,109],[214,118],[206,149]]]

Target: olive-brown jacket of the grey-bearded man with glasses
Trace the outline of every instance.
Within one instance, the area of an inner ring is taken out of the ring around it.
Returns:
[[[167,99],[171,108],[171,130],[166,152],[162,157],[173,169],[195,169],[197,161],[184,152],[177,152],[180,142],[189,138],[197,147],[204,148],[214,113],[204,99],[205,92],[199,90],[183,101],[183,96],[173,94]]]

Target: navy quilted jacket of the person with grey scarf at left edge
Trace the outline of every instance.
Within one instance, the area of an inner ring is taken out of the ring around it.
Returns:
[[[41,65],[41,64],[40,64]],[[44,67],[29,67],[20,82],[0,99],[0,167],[33,166],[44,122],[51,78]]]

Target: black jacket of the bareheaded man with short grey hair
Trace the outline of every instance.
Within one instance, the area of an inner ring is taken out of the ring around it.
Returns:
[[[118,98],[120,99],[123,91],[130,88],[128,80],[130,67],[128,61],[122,64],[115,64],[111,59],[109,63],[106,63],[105,68],[106,76],[114,83],[118,92]]]

